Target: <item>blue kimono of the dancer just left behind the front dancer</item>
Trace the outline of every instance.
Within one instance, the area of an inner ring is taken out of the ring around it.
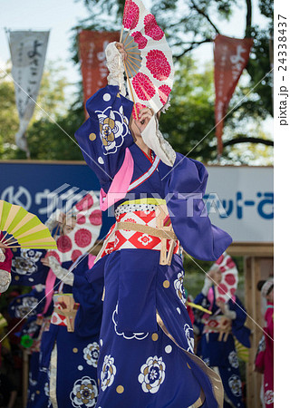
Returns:
[[[73,269],[73,287],[63,285],[62,289],[63,294],[73,293],[74,301],[80,303],[74,332],[68,332],[65,325],[52,323],[49,330],[43,332],[34,408],[46,408],[51,403],[57,403],[62,408],[86,408],[94,407],[97,402],[103,285],[102,278],[93,285],[88,283],[84,277],[88,269],[88,257],[79,258],[78,265]],[[56,285],[59,286],[57,281]],[[84,304],[86,316],[82,314]]]

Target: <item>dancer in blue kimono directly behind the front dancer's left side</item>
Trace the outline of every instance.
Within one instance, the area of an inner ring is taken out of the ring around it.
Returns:
[[[42,336],[38,389],[34,393],[33,406],[93,407],[98,395],[96,376],[102,319],[102,281],[92,287],[84,278],[84,272],[89,269],[87,254],[74,263],[63,262],[62,266],[55,257],[48,257],[46,262],[57,279],[53,293],[53,315]],[[76,317],[77,307],[83,303],[89,316],[82,316],[81,313]],[[93,316],[90,305],[93,305]]]

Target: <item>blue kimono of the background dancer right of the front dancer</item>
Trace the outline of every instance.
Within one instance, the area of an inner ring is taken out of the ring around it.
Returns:
[[[213,291],[215,294],[215,291]],[[210,308],[208,297],[202,293],[198,294],[194,303],[205,308]],[[243,408],[244,403],[242,399],[242,382],[239,373],[239,363],[237,359],[237,352],[235,346],[235,337],[242,345],[250,347],[250,330],[245,326],[247,319],[246,309],[236,297],[235,302],[232,299],[228,300],[229,309],[236,312],[236,318],[232,320],[231,334],[227,336],[227,340],[222,339],[218,341],[218,333],[204,333],[201,335],[200,343],[198,344],[198,355],[210,367],[218,367],[218,372],[221,376],[225,393],[230,402],[238,408]],[[213,302],[213,315],[222,315],[218,312],[218,306]],[[204,325],[200,319],[195,321],[198,325],[200,333],[203,332]],[[225,402],[225,406],[227,402]]]

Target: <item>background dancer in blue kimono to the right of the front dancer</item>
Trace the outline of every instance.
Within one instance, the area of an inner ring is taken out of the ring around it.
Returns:
[[[205,278],[202,291],[194,300],[196,305],[212,312],[212,315],[203,316],[197,313],[195,326],[201,335],[197,353],[220,375],[225,391],[224,407],[244,408],[235,337],[241,345],[250,347],[250,330],[245,326],[247,313],[233,292],[227,297],[227,302],[218,299],[215,286],[220,283],[220,278],[221,270],[214,264]]]

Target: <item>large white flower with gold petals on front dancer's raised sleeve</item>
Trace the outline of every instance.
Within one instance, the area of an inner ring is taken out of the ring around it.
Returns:
[[[120,111],[111,111],[111,106],[103,112],[96,111],[100,124],[100,138],[103,154],[115,153],[123,144],[125,136],[129,133],[129,122]]]

